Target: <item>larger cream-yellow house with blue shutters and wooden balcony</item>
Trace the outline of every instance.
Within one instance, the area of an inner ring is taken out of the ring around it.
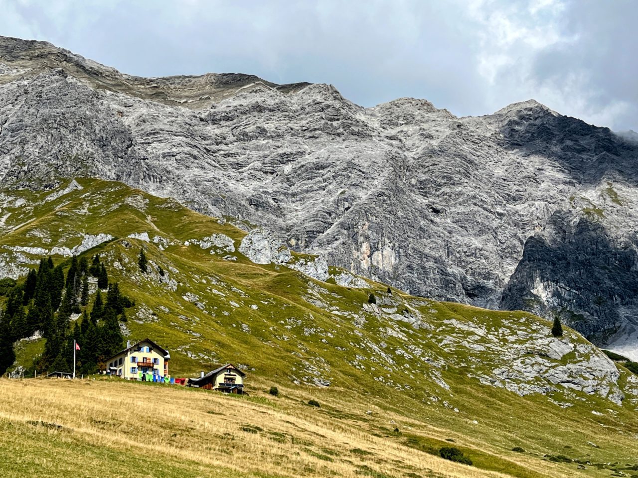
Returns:
[[[112,375],[127,380],[156,381],[168,375],[170,354],[149,338],[137,344],[128,345],[126,349],[108,358],[105,363]]]

